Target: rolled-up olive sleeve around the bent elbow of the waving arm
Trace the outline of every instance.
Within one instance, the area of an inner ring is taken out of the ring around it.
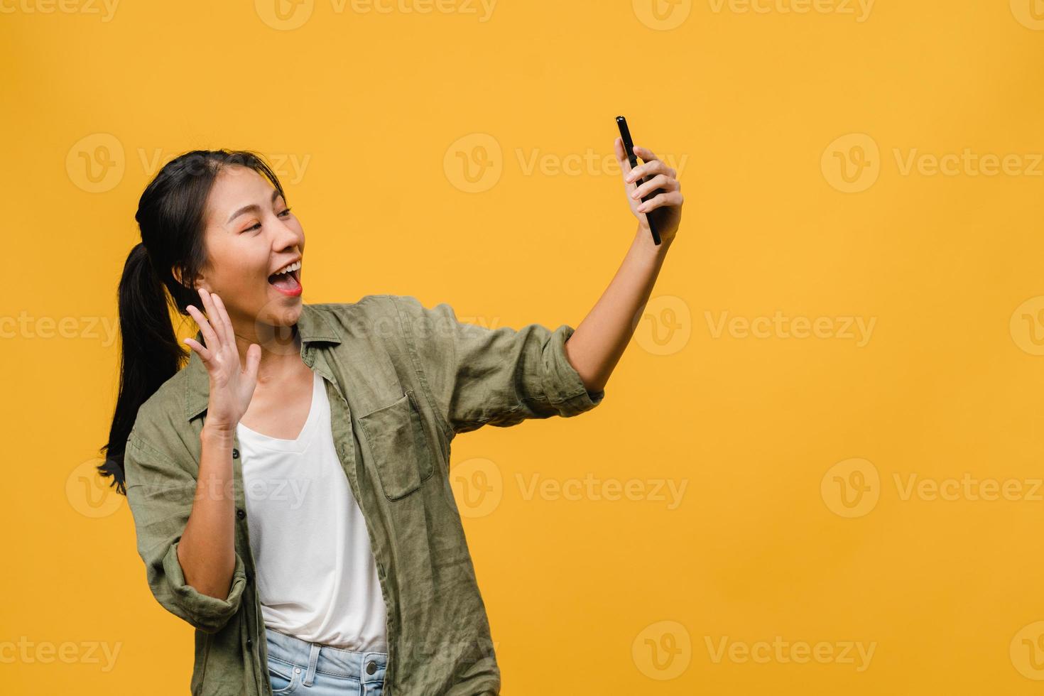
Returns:
[[[205,595],[186,584],[177,560],[177,544],[192,511],[195,478],[134,433],[127,439],[123,467],[138,555],[145,562],[145,577],[152,596],[164,608],[195,628],[217,632],[239,610],[246,586],[242,557],[236,553],[232,585],[226,599]]]

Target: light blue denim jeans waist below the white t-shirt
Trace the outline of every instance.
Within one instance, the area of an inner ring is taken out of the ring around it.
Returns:
[[[310,643],[265,627],[274,696],[381,696],[386,652]]]

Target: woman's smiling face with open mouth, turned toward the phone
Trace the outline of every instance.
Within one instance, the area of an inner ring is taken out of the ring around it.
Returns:
[[[221,169],[207,198],[205,243],[196,286],[217,293],[237,334],[296,323],[305,233],[266,178],[250,167]],[[289,264],[296,268],[275,275]]]

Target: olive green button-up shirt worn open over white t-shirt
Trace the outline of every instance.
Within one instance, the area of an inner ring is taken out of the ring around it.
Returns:
[[[574,329],[491,330],[458,321],[445,303],[426,308],[390,294],[305,304],[296,327],[302,359],[324,379],[334,446],[377,565],[387,613],[385,696],[498,694],[485,606],[450,487],[450,442],[483,425],[570,417],[597,406],[604,390],[587,391],[566,358]],[[152,595],[196,629],[191,693],[267,696],[238,438],[228,491],[236,509],[228,598],[186,584],[177,560],[209,394],[206,366],[192,352],[142,405],[124,458],[127,503]]]

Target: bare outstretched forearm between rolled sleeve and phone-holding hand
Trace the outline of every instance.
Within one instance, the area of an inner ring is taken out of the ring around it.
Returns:
[[[671,242],[659,246],[641,225],[627,255],[569,340],[566,357],[588,391],[600,391],[638,327]]]

